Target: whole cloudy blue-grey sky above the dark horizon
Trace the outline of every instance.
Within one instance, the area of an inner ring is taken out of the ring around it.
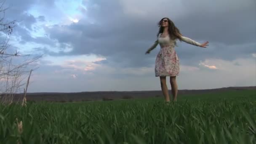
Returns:
[[[178,41],[179,89],[256,85],[255,0],[6,0],[9,44],[42,54],[29,92],[160,90],[157,22],[173,20],[200,48]],[[170,84],[168,83],[170,88]]]

